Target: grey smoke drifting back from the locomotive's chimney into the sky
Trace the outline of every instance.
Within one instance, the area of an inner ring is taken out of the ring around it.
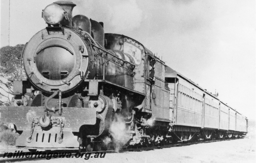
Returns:
[[[105,32],[120,33],[131,31],[140,26],[142,21],[142,10],[136,0],[67,0],[76,4],[73,16],[82,14],[89,19],[102,21]]]

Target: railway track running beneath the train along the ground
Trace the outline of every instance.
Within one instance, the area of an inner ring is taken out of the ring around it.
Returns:
[[[154,150],[154,149],[163,149],[163,148],[171,148],[171,147],[179,147],[179,146],[187,146],[187,145],[193,145],[193,144],[200,144],[200,143],[212,143],[212,142],[219,142],[219,141],[227,141],[227,140],[234,140],[234,139],[222,139],[222,140],[210,140],[210,141],[198,141],[198,142],[191,142],[191,143],[178,143],[178,144],[169,144],[169,145],[163,145],[163,146],[152,146],[152,147],[141,147],[141,148],[128,148],[128,149],[121,149],[119,151],[116,150],[108,150],[108,151],[94,151],[90,152],[91,154],[95,154],[96,152],[106,152],[106,153],[123,153],[123,152],[136,152],[136,151],[149,151],[149,150]],[[42,151],[42,152],[49,152],[49,151]],[[54,152],[63,152],[63,151],[51,151],[52,153]],[[71,158],[75,157],[75,154],[77,152],[74,151],[65,151],[65,152],[71,152]],[[32,152],[28,152],[32,153]],[[85,155],[87,152],[81,152],[81,155]],[[19,162],[19,161],[27,161],[27,160],[39,160],[39,159],[45,159],[45,158],[3,158],[4,153],[0,153],[0,163],[2,162]],[[51,159],[58,159],[60,158],[59,156],[57,158],[51,158]],[[65,158],[65,157],[64,157]],[[84,158],[84,157],[83,157]]]

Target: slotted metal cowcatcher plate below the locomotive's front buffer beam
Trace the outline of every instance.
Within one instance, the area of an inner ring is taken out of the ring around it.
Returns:
[[[62,131],[61,131],[62,130]],[[62,132],[62,136],[60,136]],[[31,136],[31,130],[23,130],[16,140],[16,146],[28,149],[78,149],[77,136],[74,136],[70,128],[61,129],[53,126],[50,130],[42,130],[41,126],[35,126]]]

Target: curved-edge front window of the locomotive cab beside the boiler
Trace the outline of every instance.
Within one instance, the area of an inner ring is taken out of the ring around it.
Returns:
[[[124,53],[129,54],[134,59],[135,64],[140,64],[141,61],[141,50],[137,46],[124,42]]]

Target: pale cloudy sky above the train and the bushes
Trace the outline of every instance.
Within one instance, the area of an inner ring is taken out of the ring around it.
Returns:
[[[70,1],[77,4],[73,16],[84,14],[104,22],[106,33],[139,41],[255,120],[255,0]],[[42,10],[53,2],[1,0],[0,46],[25,44],[45,28]]]

